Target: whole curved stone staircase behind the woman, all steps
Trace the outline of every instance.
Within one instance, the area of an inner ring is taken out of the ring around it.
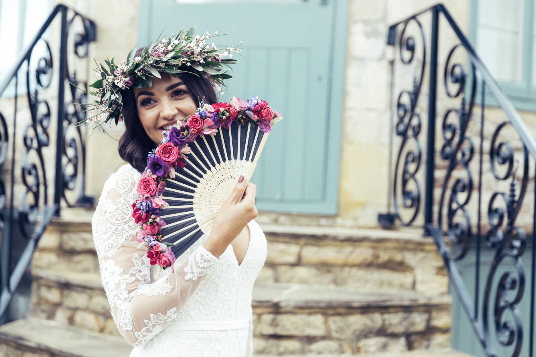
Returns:
[[[31,318],[0,326],[0,355],[128,355],[102,288],[91,215],[64,211],[47,228],[32,263]],[[256,356],[463,356],[444,351],[451,297],[431,239],[259,224],[268,254],[252,300]]]

